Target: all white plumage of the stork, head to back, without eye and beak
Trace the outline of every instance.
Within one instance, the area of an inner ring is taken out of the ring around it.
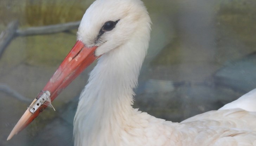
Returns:
[[[107,21],[118,22],[99,37]],[[79,99],[75,146],[256,146],[256,90],[181,123],[133,109],[150,26],[140,0],[96,0],[85,12],[77,38],[102,56]]]

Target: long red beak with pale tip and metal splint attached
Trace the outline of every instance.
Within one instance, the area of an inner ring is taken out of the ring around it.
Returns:
[[[27,127],[40,112],[51,105],[49,102],[53,101],[72,80],[98,58],[94,55],[96,48],[96,46],[87,48],[83,42],[79,40],[76,42],[57,71],[47,82],[42,92],[40,92],[30,106],[28,106],[23,116],[9,134],[7,140]]]

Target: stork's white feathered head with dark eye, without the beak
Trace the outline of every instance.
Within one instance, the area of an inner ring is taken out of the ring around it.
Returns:
[[[96,0],[83,16],[77,39],[97,46],[95,55],[100,56],[130,40],[136,29],[150,29],[150,23],[140,0]]]

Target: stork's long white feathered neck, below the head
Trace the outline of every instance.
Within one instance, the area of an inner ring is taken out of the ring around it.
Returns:
[[[116,145],[121,129],[129,124],[134,114],[133,88],[148,48],[150,31],[145,29],[102,55],[90,73],[74,120],[76,146]]]

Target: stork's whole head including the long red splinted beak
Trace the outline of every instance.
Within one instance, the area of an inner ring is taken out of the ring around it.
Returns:
[[[7,140],[30,124],[49,106],[49,101],[53,101],[101,55],[126,44],[138,34],[136,32],[141,32],[141,36],[147,35],[145,40],[148,44],[150,25],[148,12],[140,0],[96,0],[83,16],[75,46],[47,82],[43,92],[28,106]]]

